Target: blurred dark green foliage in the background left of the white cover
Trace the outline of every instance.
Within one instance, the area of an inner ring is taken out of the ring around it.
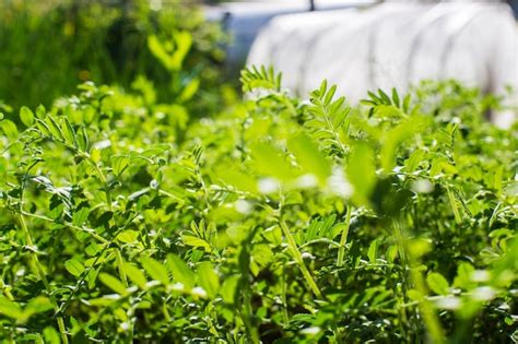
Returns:
[[[0,3],[0,99],[16,108],[49,105],[80,82],[128,88],[145,75],[158,100],[170,102],[187,87],[200,92],[205,102],[197,104],[207,107],[219,98],[211,92],[217,90],[223,40],[197,1],[5,0]],[[167,56],[175,66],[167,64]]]

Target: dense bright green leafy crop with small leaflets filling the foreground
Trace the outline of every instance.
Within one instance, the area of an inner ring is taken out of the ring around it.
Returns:
[[[516,340],[496,102],[448,82],[350,108],[280,83],[245,71],[249,97],[200,121],[89,83],[0,121],[3,342]]]

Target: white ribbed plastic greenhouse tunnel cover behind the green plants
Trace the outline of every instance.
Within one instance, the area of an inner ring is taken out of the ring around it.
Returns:
[[[367,91],[451,78],[502,95],[510,85],[518,103],[518,29],[499,3],[390,1],[282,15],[259,34],[247,63],[273,66],[301,96],[327,79],[353,104]],[[516,118],[508,111],[493,120],[509,127]]]

